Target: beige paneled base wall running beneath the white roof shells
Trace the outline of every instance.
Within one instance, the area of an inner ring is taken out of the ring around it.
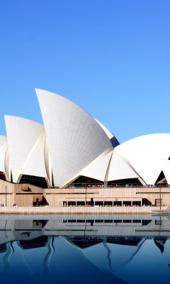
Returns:
[[[159,200],[160,197],[162,199],[162,204],[164,204],[165,207],[170,206],[169,187],[162,188],[160,195],[160,189],[157,187],[93,187],[87,189],[54,188],[44,190],[34,185],[16,184],[0,180],[0,204],[4,204],[4,207],[12,207],[13,204],[17,204],[18,207],[29,207],[30,205],[33,205],[36,198],[42,201],[42,197],[44,197],[43,200],[47,200],[47,204],[49,204],[50,207],[62,207],[63,202],[72,201],[89,203],[91,200],[94,202],[142,201],[143,204],[146,199],[152,204],[155,204],[155,200]],[[64,209],[62,209],[62,211],[63,210]],[[83,210],[84,208],[81,207],[81,212],[83,212]],[[99,212],[101,208],[96,207],[94,210]],[[119,208],[118,210],[120,210],[120,212],[122,212],[121,210],[123,210],[123,212],[125,211],[125,209],[122,208]],[[86,211],[88,211],[88,209],[86,209]],[[130,211],[130,209],[128,209],[128,211]],[[133,209],[131,211],[133,212]]]

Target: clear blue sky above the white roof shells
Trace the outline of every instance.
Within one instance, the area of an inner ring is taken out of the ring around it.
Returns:
[[[169,0],[0,0],[0,134],[4,114],[42,123],[35,88],[120,143],[170,133],[169,15]]]

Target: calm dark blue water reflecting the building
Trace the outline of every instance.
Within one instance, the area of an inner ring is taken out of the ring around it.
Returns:
[[[1,283],[170,283],[170,216],[0,215]]]

